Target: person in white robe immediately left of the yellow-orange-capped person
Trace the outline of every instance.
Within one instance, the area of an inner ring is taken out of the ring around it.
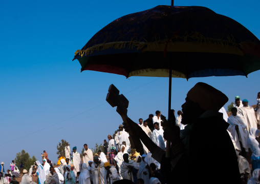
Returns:
[[[98,160],[98,156],[94,156],[94,162],[91,165],[93,184],[104,184],[104,162]]]

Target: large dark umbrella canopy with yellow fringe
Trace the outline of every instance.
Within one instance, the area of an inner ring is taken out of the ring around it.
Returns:
[[[120,17],[75,52],[81,71],[191,78],[260,69],[260,41],[205,7],[157,6]],[[73,60],[74,60],[73,59]]]

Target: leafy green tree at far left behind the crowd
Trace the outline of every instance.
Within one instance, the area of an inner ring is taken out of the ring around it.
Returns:
[[[30,157],[29,153],[25,152],[25,150],[21,150],[20,153],[16,153],[16,158],[14,159],[17,168],[20,169],[20,162],[23,162],[23,168],[29,171],[32,165],[34,165],[34,162],[37,159],[33,155],[32,158]]]

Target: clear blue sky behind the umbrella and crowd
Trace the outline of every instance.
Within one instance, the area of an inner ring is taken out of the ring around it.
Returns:
[[[0,7],[0,161],[7,165],[25,150],[40,159],[46,150],[57,162],[61,139],[93,148],[107,139],[122,119],[105,101],[114,84],[129,100],[128,116],[146,119],[160,110],[167,115],[168,78],[130,77],[80,72],[74,52],[101,28],[120,16],[170,1],[3,1]],[[176,6],[204,6],[233,18],[260,38],[257,0],[175,1]],[[256,104],[260,91],[256,71],[245,76],[172,78],[171,106],[181,110],[187,91],[199,81]],[[4,151],[5,150],[5,151]]]

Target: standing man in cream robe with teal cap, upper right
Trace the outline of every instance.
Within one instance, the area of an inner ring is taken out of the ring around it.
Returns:
[[[243,107],[239,109],[239,114],[244,116],[246,120],[246,124],[248,125],[248,131],[250,131],[250,129],[253,127],[257,128],[254,108],[248,106],[247,99],[243,99],[242,103],[243,103]]]

